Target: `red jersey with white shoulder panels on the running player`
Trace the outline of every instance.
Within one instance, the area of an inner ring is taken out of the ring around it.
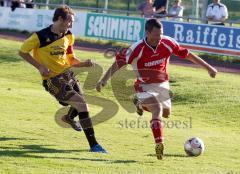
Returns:
[[[162,36],[153,49],[146,39],[142,39],[125,52],[117,53],[116,62],[119,67],[131,64],[136,73],[135,87],[139,84],[162,83],[169,80],[168,64],[172,54],[186,58],[189,51],[181,47],[177,41],[168,36]]]

